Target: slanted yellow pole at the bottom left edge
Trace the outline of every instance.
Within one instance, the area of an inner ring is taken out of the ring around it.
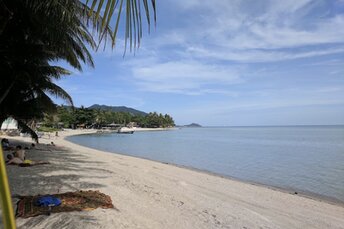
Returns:
[[[1,144],[1,143],[0,143]],[[5,229],[15,229],[10,187],[8,185],[7,172],[5,167],[4,154],[0,145],[0,206],[2,209],[2,219]]]

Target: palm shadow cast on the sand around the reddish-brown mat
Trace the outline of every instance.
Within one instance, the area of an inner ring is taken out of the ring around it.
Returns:
[[[15,142],[15,144],[28,145],[28,143],[22,142]],[[16,203],[20,196],[56,194],[89,189],[100,190],[106,187],[102,184],[102,179],[113,173],[104,168],[104,162],[91,161],[87,156],[76,154],[69,149],[51,145],[39,145],[38,148],[40,149],[26,150],[26,158],[33,161],[48,161],[51,164],[32,167],[7,165],[14,210],[16,210]],[[5,152],[5,156],[8,153],[10,152]],[[61,214],[66,214],[65,220],[72,220],[67,216],[67,213]],[[84,220],[90,222],[95,220],[92,219],[92,216],[85,216],[80,212],[74,213],[74,215],[73,220],[78,217],[86,217]],[[56,217],[49,216],[50,220]],[[37,220],[41,221],[37,217],[26,219],[23,224],[20,223],[20,227],[32,227],[38,222]],[[1,224],[0,219],[0,227]],[[59,225],[61,226],[61,224]]]

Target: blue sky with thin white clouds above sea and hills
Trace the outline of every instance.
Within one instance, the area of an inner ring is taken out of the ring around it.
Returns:
[[[93,52],[57,81],[76,106],[204,126],[344,124],[344,0],[157,0],[135,54]]]

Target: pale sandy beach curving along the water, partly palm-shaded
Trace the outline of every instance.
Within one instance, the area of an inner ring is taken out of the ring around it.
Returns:
[[[64,140],[90,132],[62,131],[27,151],[49,165],[7,166],[13,203],[16,195],[100,190],[115,209],[17,218],[18,228],[344,228],[339,204]]]

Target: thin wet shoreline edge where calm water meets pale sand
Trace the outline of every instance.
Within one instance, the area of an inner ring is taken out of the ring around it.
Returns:
[[[142,132],[144,131],[170,131],[170,130],[175,130],[175,128],[142,128]],[[321,194],[317,194],[314,192],[310,192],[310,191],[304,191],[301,189],[293,189],[293,188],[284,188],[284,187],[278,187],[278,186],[273,186],[273,185],[268,185],[268,184],[263,184],[263,183],[259,183],[259,182],[254,182],[254,181],[250,181],[250,180],[245,180],[245,179],[240,179],[237,177],[233,177],[230,175],[225,175],[225,174],[220,174],[220,173],[216,173],[216,172],[212,172],[206,169],[198,169],[192,166],[186,166],[186,165],[178,165],[178,164],[174,164],[174,163],[170,163],[170,162],[162,162],[162,161],[158,161],[158,160],[154,160],[154,159],[150,159],[150,158],[146,158],[146,157],[138,157],[138,156],[131,156],[122,152],[111,152],[111,151],[105,151],[105,150],[100,150],[97,148],[92,148],[92,147],[88,147],[88,146],[84,146],[75,142],[72,142],[70,140],[68,140],[68,137],[71,136],[77,136],[77,135],[87,135],[87,134],[98,134],[97,132],[85,132],[85,133],[77,133],[77,134],[71,134],[71,135],[66,135],[63,137],[63,140],[68,141],[72,144],[78,145],[78,146],[82,146],[82,147],[86,147],[92,150],[97,150],[103,153],[109,153],[109,154],[115,154],[115,155],[122,155],[122,156],[127,156],[127,157],[131,157],[131,158],[137,158],[137,159],[142,159],[142,160],[147,160],[147,161],[152,161],[152,162],[156,162],[156,163],[161,163],[161,164],[165,164],[165,165],[171,165],[177,168],[182,168],[182,169],[188,169],[188,170],[192,170],[195,172],[199,172],[199,173],[204,173],[204,174],[208,174],[211,176],[216,176],[216,177],[220,177],[220,178],[224,178],[224,179],[228,179],[228,180],[232,180],[232,181],[237,181],[237,182],[242,182],[242,183],[246,183],[246,184],[250,184],[250,185],[255,185],[255,186],[260,186],[260,187],[264,187],[264,188],[268,188],[274,191],[279,191],[279,192],[283,192],[286,194],[290,194],[290,195],[298,195],[304,198],[308,198],[308,199],[312,199],[312,200],[316,200],[316,201],[321,201],[321,202],[326,202],[329,204],[333,204],[333,205],[338,205],[341,207],[344,207],[344,200],[340,200],[337,199],[335,197],[330,197],[330,196],[326,196],[326,195],[321,195]],[[295,194],[295,192],[297,194]]]

